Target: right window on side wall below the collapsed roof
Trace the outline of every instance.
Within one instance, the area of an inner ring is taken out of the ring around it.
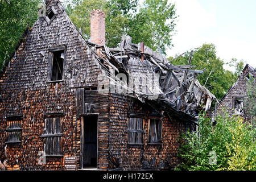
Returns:
[[[149,143],[160,143],[162,122],[159,119],[150,119]]]

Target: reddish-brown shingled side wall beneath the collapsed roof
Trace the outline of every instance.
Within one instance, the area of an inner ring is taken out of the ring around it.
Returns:
[[[130,113],[130,114],[129,114]],[[180,147],[180,132],[187,131],[188,124],[174,118],[151,114],[152,109],[139,101],[112,94],[110,96],[110,135],[109,151],[119,160],[123,170],[174,169],[179,163],[177,150]],[[142,144],[128,144],[129,117],[142,118]],[[149,119],[162,119],[162,138],[160,144],[149,143]],[[109,166],[111,168],[111,166]]]

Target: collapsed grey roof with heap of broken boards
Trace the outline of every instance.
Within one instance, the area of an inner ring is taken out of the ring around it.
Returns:
[[[97,46],[90,42],[88,45],[100,63],[108,67],[106,69],[112,68],[117,73],[122,71],[129,75],[129,81],[133,81],[134,85],[127,87],[132,91],[129,92],[129,96],[155,107],[159,113],[164,110],[177,117],[185,115],[187,119],[196,121],[195,116],[200,110],[209,111],[212,101],[218,102],[216,97],[196,79],[204,70],[192,69],[196,67],[190,65],[193,51],[188,65],[173,65],[171,61],[177,57],[168,61],[163,55],[144,46],[144,43],[131,43],[130,36],[123,35],[118,48]],[[158,84],[154,85],[154,88],[151,84],[144,84],[148,79],[152,82],[157,80]],[[112,81],[116,85],[120,84],[116,80]]]

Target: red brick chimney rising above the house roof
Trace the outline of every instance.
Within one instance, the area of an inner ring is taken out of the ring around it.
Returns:
[[[102,10],[90,11],[90,41],[105,45],[105,13]]]

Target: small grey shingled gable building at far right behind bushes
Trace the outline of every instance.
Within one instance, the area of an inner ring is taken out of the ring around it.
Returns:
[[[246,83],[250,76],[254,78],[255,84],[256,70],[249,64],[246,64],[240,76],[237,78],[237,81],[228,90],[225,96],[222,97],[220,104],[218,104],[216,110],[213,111],[213,117],[222,114],[224,109],[224,111],[227,111],[230,115],[240,115],[245,121],[251,119],[250,114],[244,108],[244,100],[247,90]]]

